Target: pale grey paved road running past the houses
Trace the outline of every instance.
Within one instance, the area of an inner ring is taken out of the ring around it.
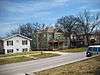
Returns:
[[[24,75],[25,73],[41,71],[84,59],[87,59],[85,52],[80,52],[21,63],[0,65],[0,75]]]

